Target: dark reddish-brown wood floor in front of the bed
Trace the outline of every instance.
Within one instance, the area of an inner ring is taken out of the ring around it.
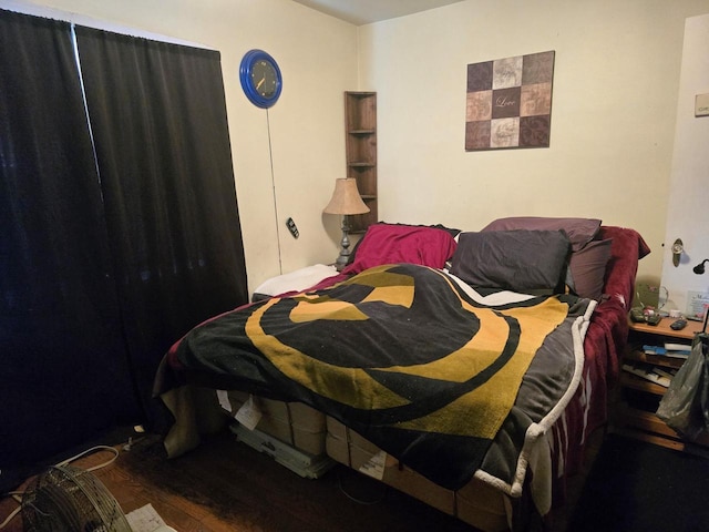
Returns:
[[[163,458],[154,437],[134,442],[131,450],[115,448],[119,458],[94,474],[124,512],[151,503],[178,532],[473,531],[342,466],[320,479],[304,479],[228,431],[174,460]],[[110,458],[100,451],[72,464],[88,469]],[[0,522],[17,507],[10,499],[0,501]],[[563,516],[557,526],[564,530]],[[20,515],[2,530],[20,531]]]

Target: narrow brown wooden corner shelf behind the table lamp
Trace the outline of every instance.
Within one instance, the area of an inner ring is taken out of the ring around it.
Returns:
[[[345,151],[347,177],[357,188],[369,213],[349,217],[350,233],[363,233],[379,221],[377,202],[377,93],[345,93]]]

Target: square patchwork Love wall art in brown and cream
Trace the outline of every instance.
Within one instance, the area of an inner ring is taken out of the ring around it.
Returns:
[[[549,146],[554,53],[467,65],[465,151]]]

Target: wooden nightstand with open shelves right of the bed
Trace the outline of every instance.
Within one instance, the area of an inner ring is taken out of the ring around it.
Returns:
[[[612,429],[670,449],[709,457],[709,437],[685,441],[655,415],[667,391],[662,383],[669,382],[685,359],[648,354],[644,346],[664,347],[666,342],[689,346],[702,326],[699,321],[689,321],[682,330],[672,330],[669,327],[672,321],[675,318],[662,318],[656,326],[629,323],[628,344],[621,361],[624,369],[612,409]],[[644,371],[647,375],[643,376]]]

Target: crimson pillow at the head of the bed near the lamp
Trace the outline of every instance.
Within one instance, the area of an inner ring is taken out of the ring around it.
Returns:
[[[453,256],[451,233],[423,225],[374,224],[358,242],[357,254],[342,274],[359,274],[382,264],[410,263],[442,268]]]

